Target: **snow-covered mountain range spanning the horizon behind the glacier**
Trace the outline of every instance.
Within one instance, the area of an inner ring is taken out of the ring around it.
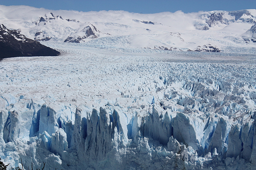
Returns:
[[[0,10],[3,11],[0,23],[9,29],[19,29],[36,41],[89,43],[96,48],[117,46],[205,52],[256,47],[255,9],[137,14],[0,5]]]

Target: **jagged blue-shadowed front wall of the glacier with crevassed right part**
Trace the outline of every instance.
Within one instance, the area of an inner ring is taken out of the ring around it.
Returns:
[[[157,100],[80,104],[75,113],[63,103],[3,95],[0,156],[8,161],[16,154],[25,167],[46,162],[49,169],[254,167],[253,92],[237,96],[234,89],[244,85],[218,79],[158,81],[166,88],[156,88]]]

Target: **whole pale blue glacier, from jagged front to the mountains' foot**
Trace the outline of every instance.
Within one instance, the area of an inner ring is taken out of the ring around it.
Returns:
[[[44,44],[62,55],[0,62],[0,157],[10,167],[256,166],[254,54]]]

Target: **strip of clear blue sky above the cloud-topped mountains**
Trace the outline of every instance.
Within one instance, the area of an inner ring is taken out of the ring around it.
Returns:
[[[256,0],[1,0],[0,4],[29,5],[51,10],[124,10],[136,13],[256,9]]]

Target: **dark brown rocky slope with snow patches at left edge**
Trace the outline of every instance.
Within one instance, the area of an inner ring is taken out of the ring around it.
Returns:
[[[0,59],[18,56],[60,55],[60,52],[25,37],[17,30],[9,30],[3,24],[0,24],[0,48]]]

